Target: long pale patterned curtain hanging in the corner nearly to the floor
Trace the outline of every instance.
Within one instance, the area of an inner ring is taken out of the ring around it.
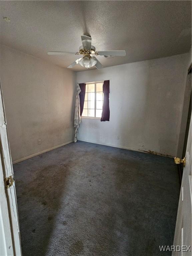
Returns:
[[[81,123],[81,116],[80,116],[80,99],[79,99],[79,93],[81,92],[81,89],[79,87],[79,84],[77,84],[77,92],[76,92],[76,102],[75,102],[75,116],[74,116],[74,130],[75,130],[75,139],[74,142],[77,142],[77,133],[79,124]]]

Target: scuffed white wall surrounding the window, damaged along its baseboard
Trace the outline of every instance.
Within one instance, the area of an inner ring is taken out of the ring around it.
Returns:
[[[110,121],[82,118],[78,139],[176,156],[187,60],[182,54],[78,72],[78,83],[110,80]]]

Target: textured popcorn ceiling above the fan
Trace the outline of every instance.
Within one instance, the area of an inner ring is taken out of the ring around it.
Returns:
[[[126,57],[99,56],[104,67],[191,47],[191,1],[0,1],[0,7],[2,44],[65,68],[78,56],[47,52],[78,51],[81,35],[90,35],[97,51],[126,50]]]

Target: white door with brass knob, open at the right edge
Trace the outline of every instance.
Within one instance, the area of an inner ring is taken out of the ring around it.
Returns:
[[[192,124],[190,121],[172,256],[192,256]],[[178,159],[176,159],[177,161]],[[183,246],[183,247],[182,247]],[[190,246],[190,248],[189,248]]]

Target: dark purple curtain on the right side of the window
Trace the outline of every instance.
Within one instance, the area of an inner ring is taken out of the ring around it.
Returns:
[[[109,80],[104,81],[103,83],[103,111],[101,115],[102,121],[109,121],[110,111],[109,111]]]

